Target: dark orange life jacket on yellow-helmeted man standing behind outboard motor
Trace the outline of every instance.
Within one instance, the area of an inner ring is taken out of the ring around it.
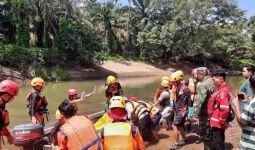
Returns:
[[[28,111],[30,112],[31,111],[31,103],[32,103],[32,94],[33,93],[29,93],[27,95],[27,109]],[[39,95],[39,93],[37,93]],[[42,114],[43,112],[45,112],[47,110],[46,106],[48,104],[46,98],[44,96],[40,96],[40,99],[36,102],[36,112],[39,113],[39,114]]]

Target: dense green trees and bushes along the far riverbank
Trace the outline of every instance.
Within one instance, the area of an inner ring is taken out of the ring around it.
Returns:
[[[0,63],[63,80],[61,68],[104,59],[234,69],[254,62],[255,15],[246,18],[235,0],[128,2],[2,0]]]

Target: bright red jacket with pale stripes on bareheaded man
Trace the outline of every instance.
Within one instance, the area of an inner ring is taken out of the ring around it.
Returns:
[[[217,91],[211,95],[208,103],[211,127],[227,128],[230,97],[230,88],[225,82],[219,85]]]

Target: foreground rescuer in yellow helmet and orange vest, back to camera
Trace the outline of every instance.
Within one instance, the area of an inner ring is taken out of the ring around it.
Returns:
[[[105,150],[145,150],[138,128],[127,122],[126,103],[122,96],[113,96],[109,103],[108,115],[112,123],[105,124],[100,131],[101,142]]]

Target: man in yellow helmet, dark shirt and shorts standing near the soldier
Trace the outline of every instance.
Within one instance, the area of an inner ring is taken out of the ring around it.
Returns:
[[[175,144],[171,145],[170,149],[178,149],[185,143],[186,137],[184,132],[184,123],[188,114],[188,104],[190,101],[190,92],[187,86],[183,83],[183,76],[179,72],[174,72],[170,76],[170,82],[173,84],[172,96],[174,100],[174,139]],[[180,141],[179,136],[182,140]]]

